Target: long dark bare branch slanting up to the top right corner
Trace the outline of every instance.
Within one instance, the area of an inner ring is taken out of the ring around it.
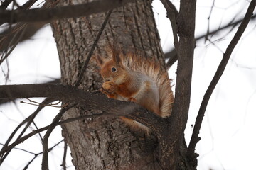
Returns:
[[[201,124],[203,121],[203,116],[206,111],[206,107],[208,105],[208,101],[210,99],[210,96],[215,89],[216,84],[218,83],[221,75],[223,74],[226,65],[228,64],[228,60],[230,59],[230,55],[232,54],[235,45],[237,45],[238,41],[240,40],[242,33],[245,31],[245,28],[247,27],[250,18],[252,17],[252,13],[255,9],[256,0],[252,0],[250,2],[250,6],[247,9],[247,12],[245,14],[244,19],[242,20],[242,23],[240,24],[238,31],[235,33],[234,38],[231,40],[230,44],[227,47],[227,50],[225,51],[223,55],[223,60],[221,60],[220,65],[218,66],[217,72],[215,73],[213,80],[210,82],[210,85],[208,86],[208,89],[206,90],[206,94],[203,96],[203,101],[201,103],[201,106],[198,111],[198,116],[196,118],[196,123],[194,125],[193,134],[191,137],[191,142],[188,146],[188,158],[191,160],[196,160],[196,155],[194,154],[195,147],[197,142],[200,140],[198,137],[199,130],[201,128]]]

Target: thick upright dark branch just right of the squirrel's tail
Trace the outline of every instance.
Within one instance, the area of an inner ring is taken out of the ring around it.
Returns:
[[[196,1],[181,1],[180,13],[178,14],[178,33],[180,46],[178,49],[178,67],[175,89],[175,101],[171,113],[171,126],[176,129],[174,138],[181,142],[183,130],[188,118],[188,108],[191,95],[191,77],[193,68],[194,31],[195,31]],[[177,128],[180,127],[180,128]]]

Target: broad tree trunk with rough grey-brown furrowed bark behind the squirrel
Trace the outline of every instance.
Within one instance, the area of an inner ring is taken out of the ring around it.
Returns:
[[[58,6],[80,1],[56,1]],[[53,21],[53,35],[60,57],[63,84],[74,85],[82,64],[104,21],[106,13],[82,18]],[[135,1],[114,9],[95,52],[105,53],[105,46],[116,43],[122,50],[139,50],[145,57],[155,57],[164,65],[159,34],[156,30],[151,1]],[[89,91],[100,89],[102,79],[90,62],[80,84]],[[97,111],[73,108],[63,118],[78,117]],[[75,169],[160,169],[156,161],[157,140],[154,135],[131,130],[114,117],[79,120],[62,126]]]

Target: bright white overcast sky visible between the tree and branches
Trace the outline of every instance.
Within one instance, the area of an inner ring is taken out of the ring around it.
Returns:
[[[178,1],[173,1],[178,8]],[[206,33],[208,16],[213,1],[199,0],[196,8],[196,35]],[[233,18],[241,18],[245,15],[248,1],[245,0],[216,0],[210,19],[210,30],[225,25]],[[169,19],[159,0],[153,2],[156,16],[156,25],[161,36],[161,45],[164,52],[173,48],[173,40]],[[194,55],[193,82],[191,91],[191,107],[186,128],[186,141],[192,133],[191,124],[194,123],[203,94],[223,57],[228,43],[233,38],[237,27],[225,37],[214,35],[210,42],[203,40],[197,42]],[[223,33],[227,34],[229,30]],[[41,83],[51,78],[60,77],[58,52],[51,33],[50,26],[45,26],[33,36],[18,45],[9,57],[10,81],[8,84]],[[225,35],[224,34],[224,35]],[[201,128],[201,141],[198,142],[196,152],[198,157],[198,169],[255,169],[256,152],[256,48],[255,46],[255,22],[245,31],[242,39],[235,48],[230,62],[218,82],[213,95],[208,103],[206,115]],[[49,62],[50,61],[50,62]],[[6,64],[1,67],[6,71]],[[175,80],[176,68],[170,70],[170,77]],[[0,84],[5,79],[0,72]],[[35,98],[36,101],[41,99]],[[25,100],[23,100],[25,101]],[[16,102],[0,106],[0,142],[4,143],[9,134],[14,130],[23,118],[35,111],[35,106]],[[59,108],[46,108],[39,113],[36,123],[39,126],[48,125]],[[54,111],[53,111],[54,110]],[[60,128],[53,131],[50,138],[50,146],[61,139]],[[58,139],[58,140],[56,140]],[[52,169],[61,169],[63,144],[57,147],[50,155]],[[31,152],[41,152],[41,142],[38,137],[28,140],[18,148],[28,149]],[[68,154],[69,155],[69,154]],[[22,157],[22,159],[16,159]],[[32,154],[22,151],[11,152],[0,170],[23,169]],[[13,160],[15,161],[15,164]],[[70,162],[68,163],[71,164]],[[40,169],[41,157],[36,159],[28,169]],[[73,169],[70,167],[70,169]]]

